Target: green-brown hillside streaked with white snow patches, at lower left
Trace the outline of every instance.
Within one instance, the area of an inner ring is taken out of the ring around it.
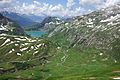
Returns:
[[[6,44],[4,44],[5,42]],[[21,51],[24,48],[27,49]],[[10,53],[11,50],[13,51]],[[35,69],[41,68],[43,63],[49,61],[49,58],[55,55],[55,52],[56,45],[47,40],[0,35],[0,73],[5,71],[4,74],[0,74],[0,80],[21,78],[17,75],[26,79],[31,71],[36,72]],[[17,53],[21,55],[17,55]]]

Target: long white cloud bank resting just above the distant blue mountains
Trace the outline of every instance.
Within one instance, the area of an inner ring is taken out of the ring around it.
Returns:
[[[81,14],[81,8],[70,9],[73,5],[73,1],[68,2],[68,6],[65,7],[62,4],[52,5],[48,3],[41,3],[38,1],[33,1],[33,3],[22,3],[14,2],[11,6],[5,7],[4,10],[8,12],[17,12],[20,14],[34,14],[39,16],[59,16],[59,17],[71,17],[78,16]],[[3,9],[2,9],[3,10]]]

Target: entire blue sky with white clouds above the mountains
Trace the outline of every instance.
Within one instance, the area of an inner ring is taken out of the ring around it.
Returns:
[[[115,5],[120,0],[0,0],[0,11],[48,16],[78,16]]]

